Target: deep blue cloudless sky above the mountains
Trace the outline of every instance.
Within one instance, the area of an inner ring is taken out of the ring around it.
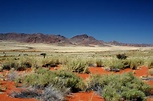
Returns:
[[[0,32],[153,44],[153,0],[0,0]]]

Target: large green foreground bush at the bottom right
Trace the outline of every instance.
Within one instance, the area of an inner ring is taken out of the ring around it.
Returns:
[[[150,94],[151,87],[132,73],[91,75],[88,89],[98,92],[106,101],[142,101]]]

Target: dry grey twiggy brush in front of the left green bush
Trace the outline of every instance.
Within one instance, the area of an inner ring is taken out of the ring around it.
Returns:
[[[64,101],[66,94],[67,92],[62,92],[52,86],[48,86],[41,89],[41,92],[35,87],[28,87],[21,91],[13,91],[9,96],[14,98],[35,98],[40,101]]]

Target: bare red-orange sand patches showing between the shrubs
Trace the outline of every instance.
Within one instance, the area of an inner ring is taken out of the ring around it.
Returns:
[[[56,70],[56,69],[53,68],[51,70]],[[105,71],[103,68],[98,68],[98,67],[90,67],[89,70],[92,74],[104,75],[104,74],[114,73],[114,72]],[[146,75],[148,75],[148,68],[142,67],[141,69],[135,70],[135,71],[133,71],[131,69],[125,69],[125,70],[121,70],[120,72],[116,72],[116,73],[125,73],[125,72],[135,72],[135,75],[138,77],[146,76]],[[90,74],[77,74],[77,75],[79,75],[83,79],[86,79],[89,77]],[[4,91],[2,94],[0,94],[0,101],[37,101],[36,99],[12,98],[12,97],[8,96],[8,94],[11,91],[19,90],[15,87],[14,82],[1,80],[0,83],[2,84],[2,86],[7,87],[6,91]],[[148,81],[147,83],[150,85],[153,85],[153,81]],[[72,94],[71,96],[68,96],[66,99],[67,99],[67,101],[104,101],[103,98],[101,98],[100,96],[98,96],[94,92],[78,92],[78,93]],[[153,101],[153,97],[148,98],[147,101]]]

